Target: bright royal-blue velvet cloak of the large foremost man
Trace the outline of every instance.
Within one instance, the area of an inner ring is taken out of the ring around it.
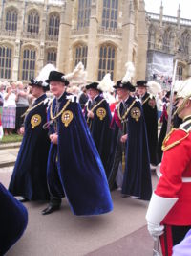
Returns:
[[[59,99],[59,110],[67,103],[66,96],[64,93]],[[54,99],[53,112],[55,103]],[[110,212],[113,203],[105,171],[81,107],[71,102],[66,110],[74,117],[68,127],[62,122],[62,115],[57,118],[58,145],[51,145],[48,160],[50,193],[57,198],[66,196],[74,215]],[[54,132],[51,125],[50,133]]]

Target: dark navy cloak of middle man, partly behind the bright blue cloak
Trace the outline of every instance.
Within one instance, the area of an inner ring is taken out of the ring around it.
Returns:
[[[96,144],[96,149],[101,157],[101,161],[103,163],[106,175],[109,175],[109,168],[110,168],[110,156],[111,156],[111,142],[112,142],[112,136],[113,136],[113,130],[110,128],[110,123],[112,121],[112,115],[110,111],[109,104],[106,102],[106,100],[102,101],[104,98],[102,96],[96,97],[96,108],[94,109],[94,119],[88,118],[88,109],[91,109],[90,107],[90,101],[85,108],[85,119],[88,121],[88,127],[90,128],[91,135],[94,139],[94,142]],[[102,101],[102,102],[101,102]],[[101,103],[100,103],[101,102]],[[100,103],[98,105],[98,103]],[[104,109],[106,112],[105,117],[102,119],[98,116],[99,113],[97,111],[99,109]]]

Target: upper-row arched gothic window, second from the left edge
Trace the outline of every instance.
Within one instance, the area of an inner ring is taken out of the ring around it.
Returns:
[[[27,32],[38,34],[40,17],[38,12],[32,11],[28,14]]]

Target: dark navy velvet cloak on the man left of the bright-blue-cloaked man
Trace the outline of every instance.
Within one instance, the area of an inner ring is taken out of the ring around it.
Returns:
[[[36,99],[34,105],[47,99],[44,94]],[[41,117],[39,125],[32,128],[34,115]],[[47,159],[50,148],[47,122],[47,103],[33,108],[25,119],[25,133],[16,159],[9,190],[14,196],[22,196],[29,200],[49,199],[47,186]]]

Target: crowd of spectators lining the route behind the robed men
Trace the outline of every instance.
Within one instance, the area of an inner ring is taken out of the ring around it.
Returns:
[[[79,104],[83,108],[88,101],[85,87],[69,86],[67,90],[77,97]],[[136,96],[136,92],[134,94]],[[163,90],[156,98],[159,117],[166,102],[165,94],[166,91]],[[47,95],[49,98],[52,98],[51,92],[47,92]],[[115,94],[111,93],[110,95],[104,95],[104,97],[111,105],[113,113],[113,108],[117,104]],[[24,85],[22,81],[0,81],[0,116],[4,135],[11,133],[20,134],[20,128],[24,122],[23,114],[32,105],[33,100],[31,87]]]

